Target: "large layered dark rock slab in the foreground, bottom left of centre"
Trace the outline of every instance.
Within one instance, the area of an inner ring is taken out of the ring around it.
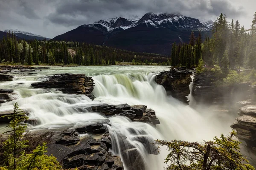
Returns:
[[[108,121],[98,123],[107,129],[105,123]],[[52,142],[47,144],[46,154],[55,156],[65,169],[77,167],[78,170],[123,170],[121,158],[109,152],[112,146],[109,134],[97,131],[97,128],[91,126],[93,134],[84,137],[79,136],[79,133],[88,133],[86,128],[78,127],[79,131],[52,130],[54,135]],[[40,132],[36,132],[35,135],[38,134]]]

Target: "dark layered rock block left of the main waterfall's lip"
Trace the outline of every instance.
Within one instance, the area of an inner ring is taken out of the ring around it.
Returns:
[[[47,81],[31,84],[34,88],[56,88],[66,94],[85,94],[95,99],[92,91],[94,83],[92,77],[85,74],[59,74],[49,77]]]

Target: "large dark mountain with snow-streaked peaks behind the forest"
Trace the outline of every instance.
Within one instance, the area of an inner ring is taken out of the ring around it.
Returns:
[[[198,19],[180,14],[147,13],[141,18],[123,17],[82,25],[52,40],[79,41],[108,45],[130,51],[169,55],[173,42],[189,42],[191,31],[203,37],[210,28]]]

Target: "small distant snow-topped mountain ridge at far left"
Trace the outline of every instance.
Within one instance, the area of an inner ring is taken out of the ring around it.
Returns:
[[[41,35],[37,35],[37,34],[32,34],[30,32],[26,32],[26,31],[21,31],[21,30],[18,30],[18,29],[6,29],[4,30],[6,33],[11,33],[13,32],[13,34],[15,34],[17,37],[20,37],[20,38],[24,38],[25,40],[34,40],[34,39],[37,39],[37,40],[44,40],[45,37],[41,36]],[[49,40],[49,38],[46,38],[47,40]]]

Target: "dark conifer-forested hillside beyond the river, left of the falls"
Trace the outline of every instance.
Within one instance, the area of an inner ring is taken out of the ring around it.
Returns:
[[[17,40],[14,34],[7,34],[0,40],[0,61],[28,65],[115,65],[116,61],[166,64],[167,57],[79,42]]]

